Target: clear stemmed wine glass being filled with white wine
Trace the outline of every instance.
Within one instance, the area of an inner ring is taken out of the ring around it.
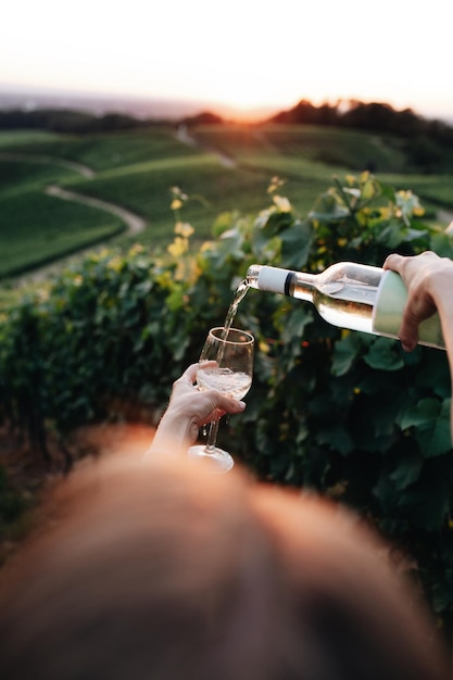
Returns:
[[[253,345],[254,338],[246,330],[211,328],[200,355],[198,389],[214,389],[227,396],[242,399],[252,385]],[[203,362],[210,362],[210,365],[203,366]],[[218,424],[218,419],[210,424],[206,443],[190,446],[188,456],[211,463],[217,473],[227,473],[234,466],[234,459],[227,451],[216,446]]]

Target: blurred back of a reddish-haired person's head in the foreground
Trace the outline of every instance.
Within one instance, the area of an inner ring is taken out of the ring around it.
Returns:
[[[160,457],[74,474],[47,516],[3,578],[2,678],[441,677],[382,546],[319,500]]]

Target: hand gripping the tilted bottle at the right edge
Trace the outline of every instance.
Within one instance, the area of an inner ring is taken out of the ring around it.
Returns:
[[[448,336],[453,338],[453,328],[448,329],[448,326],[453,326],[450,323],[453,314],[453,262],[426,251],[407,257],[389,255],[383,268],[398,272],[407,288],[407,303],[399,333],[404,350],[414,350],[419,324],[438,310],[449,351]]]

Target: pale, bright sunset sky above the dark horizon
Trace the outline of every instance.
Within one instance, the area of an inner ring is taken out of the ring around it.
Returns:
[[[247,116],[301,99],[453,121],[453,0],[14,0],[0,88],[191,100]]]

